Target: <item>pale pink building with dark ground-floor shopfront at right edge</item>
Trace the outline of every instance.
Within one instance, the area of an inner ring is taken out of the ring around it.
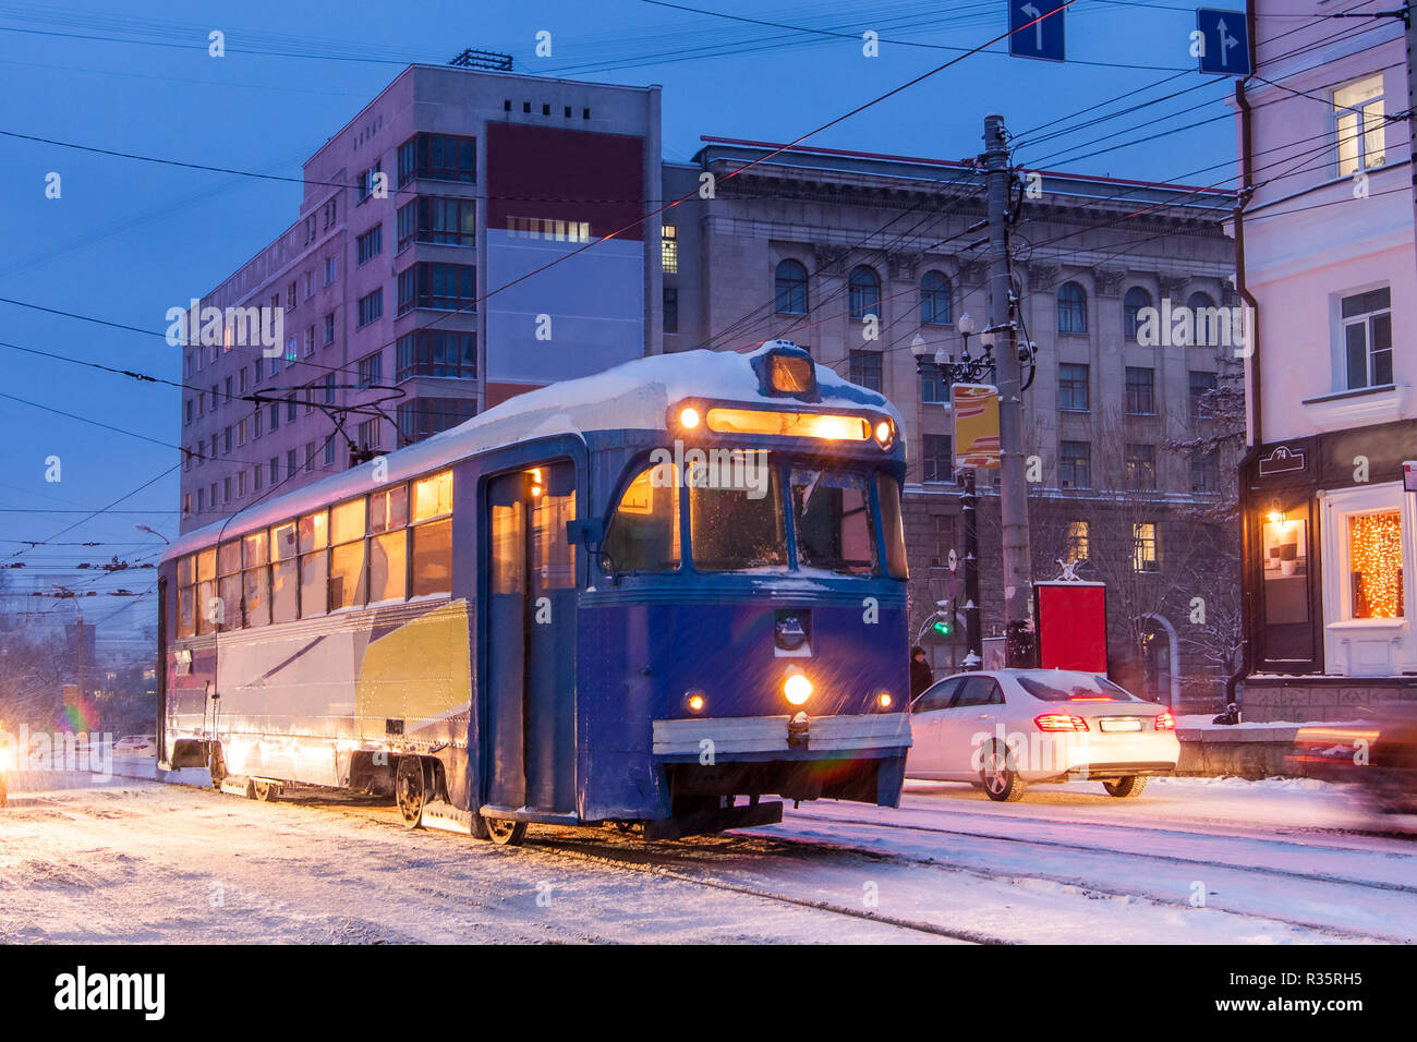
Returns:
[[[1237,96],[1253,193],[1233,228],[1258,330],[1241,471],[1244,709],[1352,719],[1417,698],[1406,33],[1396,17],[1274,17],[1314,14],[1297,0],[1254,9],[1257,75]]]

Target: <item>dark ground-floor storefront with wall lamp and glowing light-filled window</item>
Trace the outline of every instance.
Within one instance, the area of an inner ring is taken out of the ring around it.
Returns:
[[[1261,447],[1241,475],[1247,716],[1345,719],[1417,699],[1417,422]]]

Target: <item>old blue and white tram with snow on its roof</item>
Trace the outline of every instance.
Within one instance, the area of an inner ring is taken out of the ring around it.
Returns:
[[[894,807],[904,454],[884,397],[777,340],[529,391],[258,502],[160,564],[163,766],[503,844]]]

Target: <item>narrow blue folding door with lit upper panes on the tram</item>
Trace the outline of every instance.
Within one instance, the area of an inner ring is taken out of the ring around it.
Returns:
[[[493,478],[487,605],[489,802],[575,811],[575,468]]]

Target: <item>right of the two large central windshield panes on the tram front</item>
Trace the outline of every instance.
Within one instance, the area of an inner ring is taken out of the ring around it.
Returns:
[[[798,563],[837,574],[874,573],[876,526],[866,479],[852,472],[794,469],[791,483]]]

